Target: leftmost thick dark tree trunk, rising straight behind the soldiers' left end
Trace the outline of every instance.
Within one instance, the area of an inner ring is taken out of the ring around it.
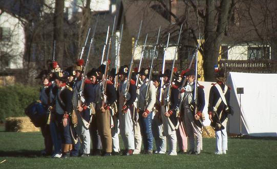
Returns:
[[[56,0],[54,13],[54,40],[56,40],[56,60],[62,67],[63,65],[63,50],[65,48],[63,35],[63,8],[65,8],[65,0]]]

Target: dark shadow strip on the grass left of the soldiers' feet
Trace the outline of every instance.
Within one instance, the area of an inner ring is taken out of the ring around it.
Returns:
[[[0,151],[0,157],[27,157],[35,158],[41,156],[40,151],[17,150],[17,151]]]

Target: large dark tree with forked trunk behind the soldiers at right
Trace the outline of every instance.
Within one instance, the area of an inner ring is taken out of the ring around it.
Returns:
[[[184,65],[187,65],[185,63],[189,61],[188,56],[194,52],[198,44],[200,33],[203,36],[199,51],[203,56],[204,78],[207,81],[214,81],[214,66],[218,64],[222,38],[235,7],[235,0],[206,0],[205,4],[204,1],[183,0],[181,5],[183,9],[179,11],[183,13],[181,15],[172,10],[172,4],[177,7],[176,4],[179,3],[180,6],[180,1],[156,2],[171,16],[169,17],[171,22],[176,22],[178,27],[183,24],[182,47],[179,50],[180,68],[184,69]],[[190,9],[194,10],[194,15],[191,15]]]

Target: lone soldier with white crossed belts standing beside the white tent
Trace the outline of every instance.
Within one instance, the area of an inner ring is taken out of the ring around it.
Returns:
[[[227,132],[226,125],[230,113],[230,88],[225,85],[224,69],[216,69],[217,83],[212,83],[209,93],[208,114],[212,128],[216,131],[217,149],[215,154],[226,154]]]

